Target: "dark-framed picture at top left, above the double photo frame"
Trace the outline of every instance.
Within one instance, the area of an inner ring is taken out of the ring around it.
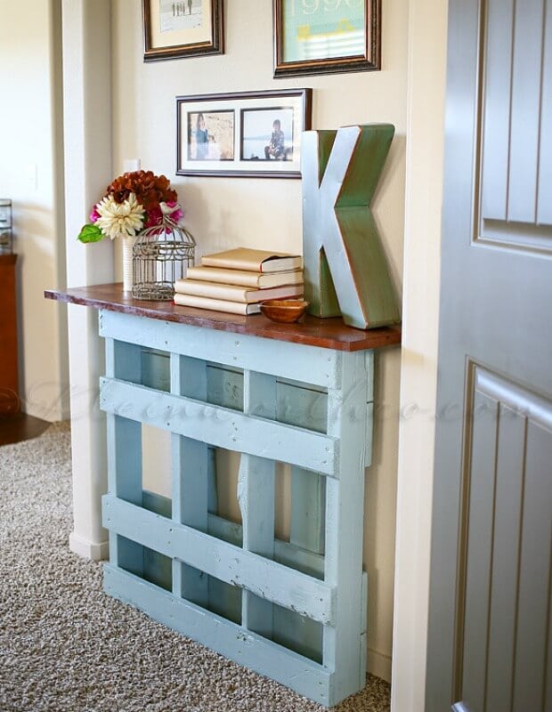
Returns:
[[[223,53],[223,0],[142,0],[143,61]]]

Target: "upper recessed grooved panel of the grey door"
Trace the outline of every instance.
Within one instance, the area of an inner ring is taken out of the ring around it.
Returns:
[[[481,31],[473,242],[552,254],[552,2],[482,0]]]

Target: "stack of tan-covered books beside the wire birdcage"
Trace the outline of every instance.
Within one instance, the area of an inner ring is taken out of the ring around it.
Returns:
[[[201,257],[175,281],[175,304],[231,314],[256,314],[266,299],[303,296],[303,258],[237,247]]]

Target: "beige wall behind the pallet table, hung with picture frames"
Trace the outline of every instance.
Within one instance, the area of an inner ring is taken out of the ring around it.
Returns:
[[[142,14],[134,0],[113,0],[113,171],[125,158],[165,173],[178,187],[199,255],[239,244],[301,249],[301,183],[175,177],[175,95],[313,87],[313,128],[391,122],[396,138],[374,200],[395,283],[402,284],[407,93],[407,4],[386,0],[383,70],[272,79],[272,3],[227,0],[225,53],[199,59],[142,61]],[[285,206],[274,220],[272,201]],[[377,360],[374,465],[367,473],[365,565],[369,570],[369,668],[390,676],[394,585],[400,352]]]

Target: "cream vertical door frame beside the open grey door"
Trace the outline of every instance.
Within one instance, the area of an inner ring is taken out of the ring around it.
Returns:
[[[410,0],[392,712],[423,712],[437,385],[447,4]]]

